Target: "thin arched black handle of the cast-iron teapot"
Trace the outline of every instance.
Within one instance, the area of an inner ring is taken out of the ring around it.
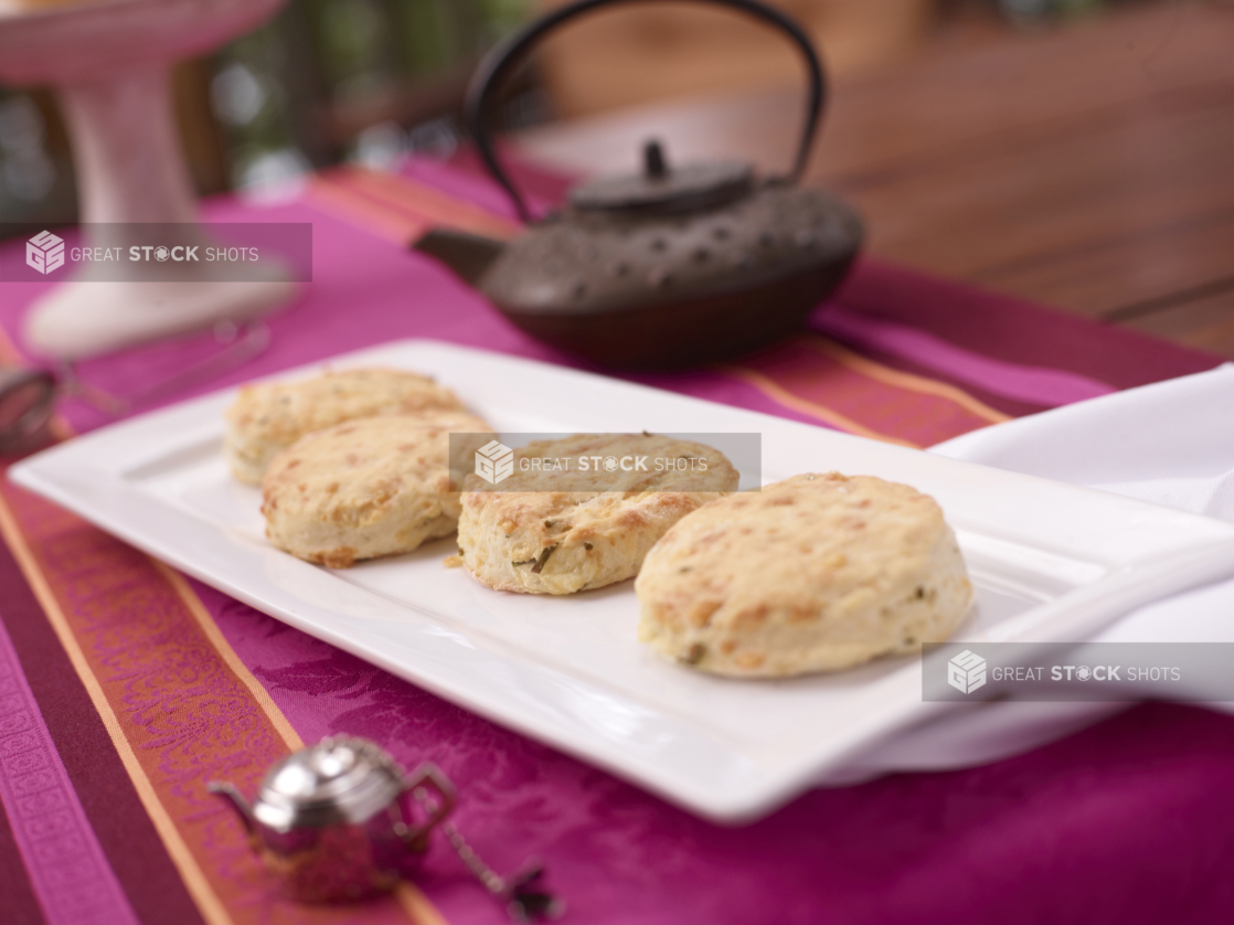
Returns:
[[[510,176],[497,160],[497,155],[494,152],[492,146],[492,134],[489,131],[487,111],[496,86],[508,75],[510,70],[518,63],[531,46],[566,20],[573,20],[576,16],[591,12],[601,6],[612,6],[615,4],[637,1],[645,0],[576,0],[576,2],[568,4],[536,20],[534,22],[528,23],[515,35],[500,42],[484,57],[480,65],[476,68],[475,75],[471,78],[471,85],[468,88],[466,104],[464,107],[466,123],[471,130],[471,136],[485,166],[489,168],[489,173],[492,174],[492,178],[499,184],[501,184],[502,189],[510,194],[510,199],[513,200],[515,210],[518,212],[518,217],[524,222],[532,221],[531,212],[527,210],[527,204],[523,201],[522,195],[520,195],[518,190],[515,189]],[[814,134],[818,131],[818,122],[822,117],[823,101],[826,99],[827,90],[827,84],[823,79],[823,65],[818,58],[818,53],[814,51],[813,43],[810,41],[810,36],[806,35],[806,31],[796,20],[780,10],[766,6],[756,0],[706,0],[706,2],[716,4],[718,6],[729,6],[734,10],[747,12],[755,18],[763,20],[764,22],[768,22],[785,32],[801,49],[801,53],[806,59],[810,78],[810,94],[806,100],[806,122],[802,126],[801,142],[797,146],[797,158],[793,162],[792,169],[781,180],[797,183],[797,180],[801,179],[802,171],[806,169],[810,148],[813,144]]]

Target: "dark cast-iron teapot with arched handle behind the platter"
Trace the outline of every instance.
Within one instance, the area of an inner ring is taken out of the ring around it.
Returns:
[[[785,176],[750,164],[674,165],[658,142],[643,170],[570,190],[533,220],[499,162],[487,112],[496,88],[557,26],[627,0],[581,0],[531,23],[480,63],[466,117],[476,148],[526,231],[508,242],[434,229],[415,249],[444,261],[517,327],[565,352],[619,369],[680,369],[732,359],[801,327],[844,279],[861,222],[834,196],[796,185],[823,110],[818,54],[792,18],[754,0],[708,0],[785,32],[810,88],[796,159]]]

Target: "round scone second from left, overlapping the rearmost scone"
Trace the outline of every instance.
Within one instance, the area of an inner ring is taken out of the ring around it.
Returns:
[[[270,462],[262,482],[265,535],[332,569],[410,553],[454,533],[459,486],[492,439],[466,412],[348,421],[306,434]],[[450,458],[450,433],[455,439]]]

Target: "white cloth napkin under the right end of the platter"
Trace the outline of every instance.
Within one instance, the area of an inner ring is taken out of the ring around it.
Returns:
[[[1234,364],[987,427],[930,451],[1234,523]],[[1093,641],[1234,641],[1234,581],[1143,607]],[[1128,705],[963,704],[875,744],[822,783],[995,761]]]

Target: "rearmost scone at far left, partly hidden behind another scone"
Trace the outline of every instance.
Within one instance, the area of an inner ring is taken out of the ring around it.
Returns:
[[[275,454],[313,430],[379,414],[464,411],[449,388],[395,369],[326,372],[301,382],[243,386],[227,409],[223,448],[232,474],[260,485]]]

